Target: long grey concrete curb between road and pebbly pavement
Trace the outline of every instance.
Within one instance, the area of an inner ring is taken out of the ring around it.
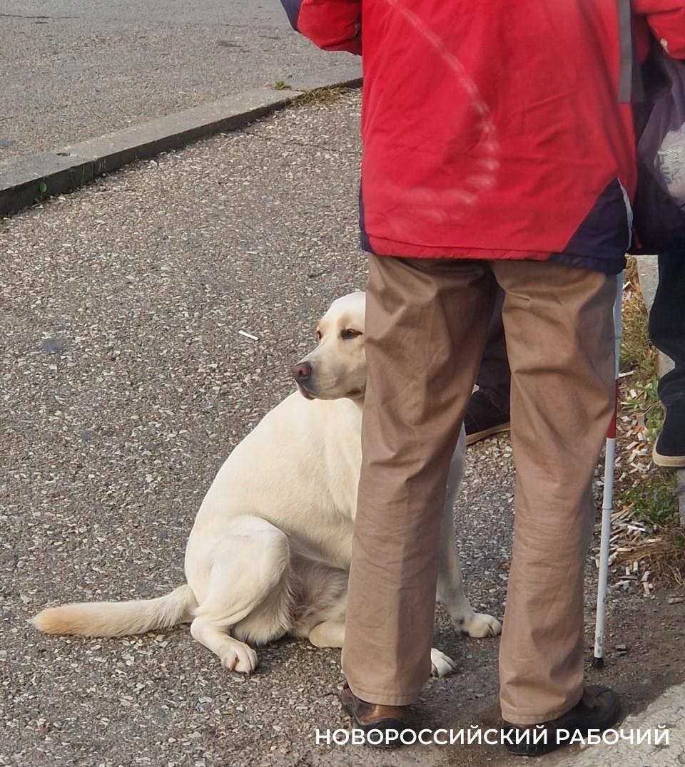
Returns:
[[[71,192],[103,173],[192,141],[247,125],[292,104],[307,91],[359,87],[358,65],[335,67],[286,81],[282,90],[257,88],[211,104],[175,112],[63,149],[26,157],[0,171],[0,216],[7,216],[49,196]]]

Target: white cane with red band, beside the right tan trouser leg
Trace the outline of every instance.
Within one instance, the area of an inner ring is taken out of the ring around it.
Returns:
[[[609,578],[609,538],[611,538],[611,512],[614,511],[614,461],[616,459],[616,420],[618,411],[618,380],[620,374],[621,304],[623,302],[624,273],[617,277],[614,302],[614,418],[607,432],[607,449],[604,453],[604,497],[602,498],[602,532],[600,543],[599,581],[597,583],[597,618],[594,626],[594,658],[592,666],[604,667],[604,618],[607,613],[607,581]]]

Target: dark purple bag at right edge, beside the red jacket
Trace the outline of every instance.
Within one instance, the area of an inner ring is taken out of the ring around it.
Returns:
[[[635,105],[636,242],[631,253],[685,253],[685,61],[655,44],[643,69],[645,101]]]

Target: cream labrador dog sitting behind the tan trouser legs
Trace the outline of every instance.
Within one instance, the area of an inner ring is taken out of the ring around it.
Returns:
[[[293,367],[286,397],[233,450],[197,512],[187,584],[145,601],[66,604],[32,623],[48,634],[114,637],[190,621],[224,667],[250,673],[252,645],[290,634],[342,647],[366,387],[364,294],[333,302],[316,349]],[[437,598],[472,637],[499,634],[462,588],[452,509],[464,471],[464,433],[452,459],[442,516]],[[455,664],[432,650],[433,673]]]

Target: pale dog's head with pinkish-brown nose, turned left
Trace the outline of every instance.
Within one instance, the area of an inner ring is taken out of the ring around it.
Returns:
[[[309,400],[361,400],[366,391],[363,293],[333,301],[316,327],[319,344],[293,365],[293,377]]]

